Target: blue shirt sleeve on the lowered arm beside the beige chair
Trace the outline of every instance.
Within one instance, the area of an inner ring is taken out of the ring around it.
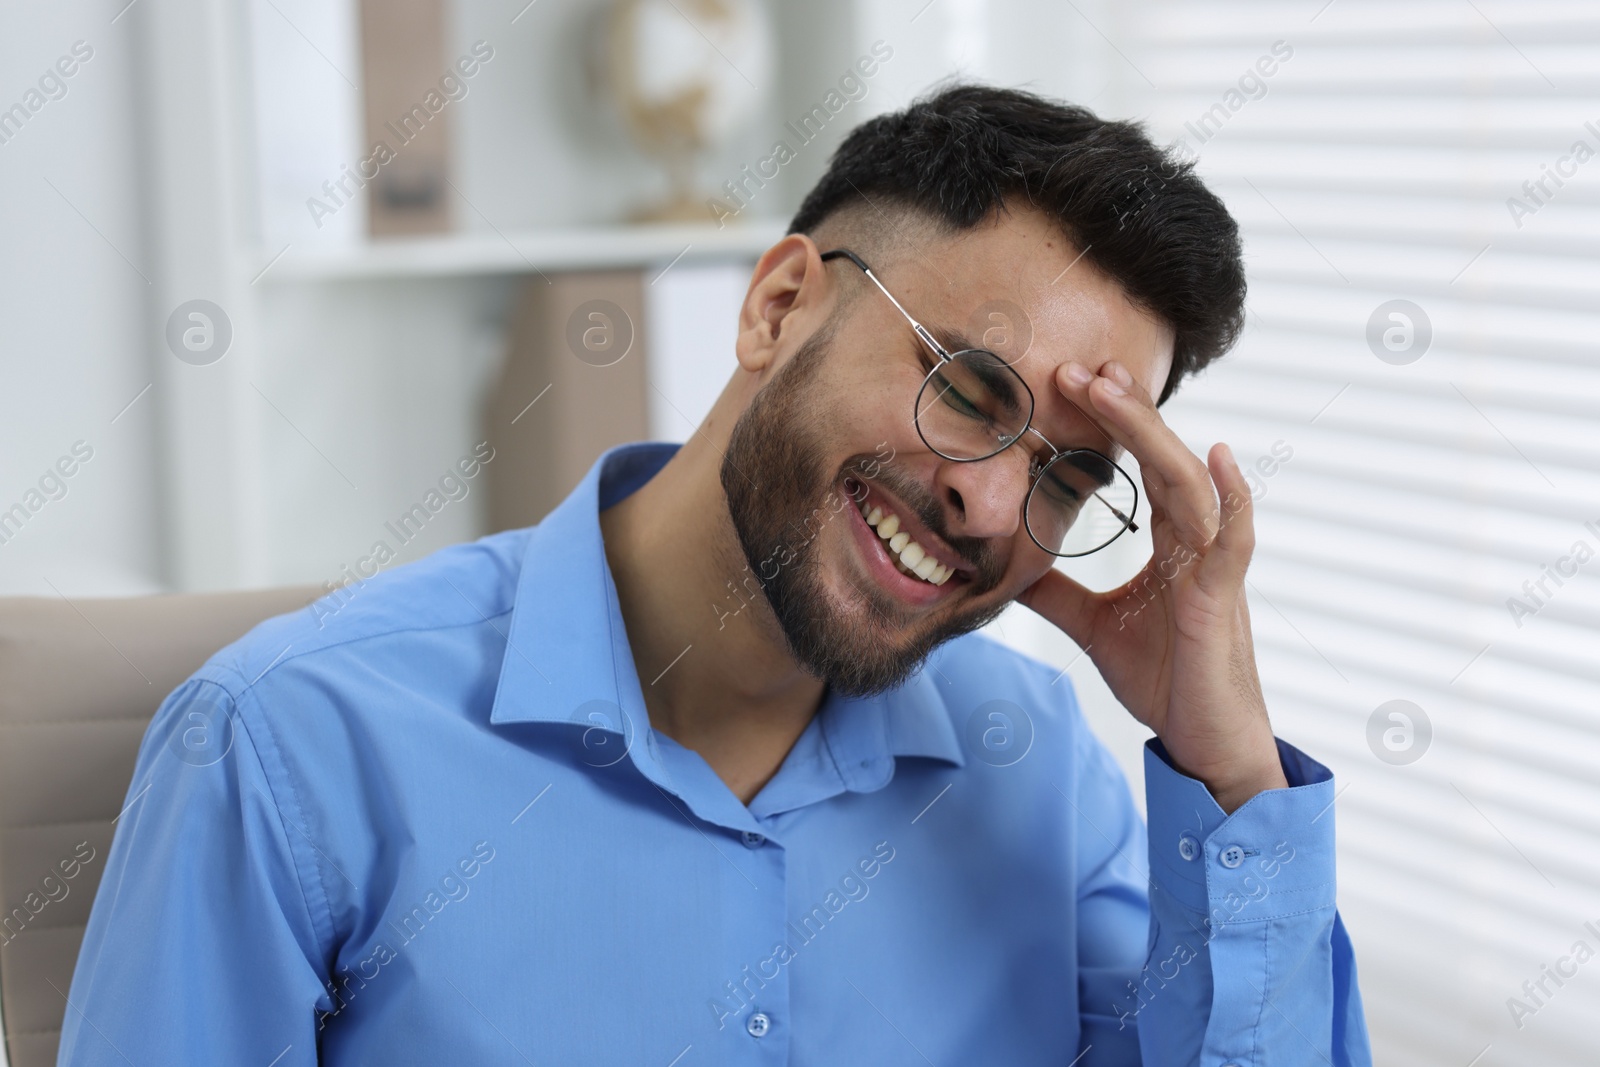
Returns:
[[[315,1064],[320,873],[224,686],[166,697],[123,803],[58,1064]]]

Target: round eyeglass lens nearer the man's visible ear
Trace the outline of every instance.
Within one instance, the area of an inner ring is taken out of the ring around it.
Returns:
[[[986,349],[944,360],[917,394],[917,432],[946,459],[987,459],[1014,442],[1032,418],[1027,384]]]

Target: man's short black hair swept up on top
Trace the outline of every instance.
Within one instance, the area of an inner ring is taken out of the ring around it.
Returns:
[[[1157,147],[1138,123],[1018,90],[944,88],[856,126],[789,232],[810,235],[862,205],[952,234],[1008,206],[1042,210],[1174,330],[1160,402],[1227,352],[1243,326],[1238,226],[1194,163]]]

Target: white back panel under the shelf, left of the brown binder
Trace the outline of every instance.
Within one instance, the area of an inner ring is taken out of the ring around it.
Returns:
[[[267,288],[256,379],[275,582],[339,581],[384,523],[419,502],[483,440],[515,282],[416,278]],[[443,507],[398,563],[485,531],[483,486]]]

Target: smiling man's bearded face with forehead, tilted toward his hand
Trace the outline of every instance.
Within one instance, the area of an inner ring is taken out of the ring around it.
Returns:
[[[1115,456],[1061,395],[1056,370],[1115,360],[1155,397],[1173,333],[1078,251],[1042,216],[1014,213],[958,237],[901,242],[869,264],[946,350],[987,347],[1011,362],[1050,443]],[[1029,459],[1050,450],[1029,434],[978,462],[933,453],[912,413],[936,357],[859,269],[832,261],[824,272],[835,294],[862,291],[786,354],[733,429],[722,483],[790,651],[838,689],[877,693],[1054,563],[1022,525]],[[909,573],[885,528],[909,534],[938,569]]]

